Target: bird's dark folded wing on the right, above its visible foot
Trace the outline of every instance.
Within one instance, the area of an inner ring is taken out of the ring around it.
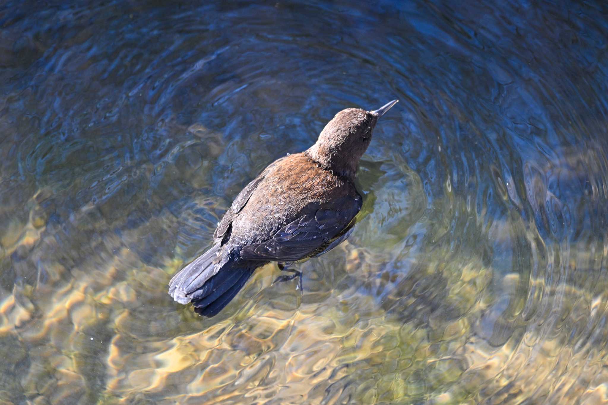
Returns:
[[[245,246],[241,250],[241,258],[294,262],[324,253],[328,246],[334,247],[337,243],[333,242],[350,230],[358,211],[359,207],[343,211],[318,209],[305,214],[283,226],[272,239]]]

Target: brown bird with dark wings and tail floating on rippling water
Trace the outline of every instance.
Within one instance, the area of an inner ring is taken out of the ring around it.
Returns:
[[[237,195],[213,233],[212,247],[169,282],[179,304],[199,315],[223,310],[254,271],[269,262],[293,273],[294,262],[320,256],[350,236],[362,197],[354,180],[379,118],[398,100],[375,111],[347,108],[329,121],[313,146],[268,165]]]

